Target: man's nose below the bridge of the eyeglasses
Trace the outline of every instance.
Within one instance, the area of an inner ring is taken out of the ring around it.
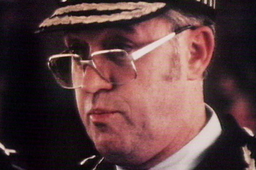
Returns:
[[[100,90],[111,90],[113,88],[113,84],[99,75],[92,66],[87,66],[84,71],[82,89],[86,92],[96,93]]]

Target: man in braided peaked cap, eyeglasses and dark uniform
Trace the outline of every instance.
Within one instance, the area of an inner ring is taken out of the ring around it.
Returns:
[[[68,49],[51,56],[49,67],[59,84],[75,89],[103,156],[82,161],[86,169],[94,158],[92,169],[255,169],[254,138],[204,103],[213,1],[60,4],[39,32],[64,31]]]

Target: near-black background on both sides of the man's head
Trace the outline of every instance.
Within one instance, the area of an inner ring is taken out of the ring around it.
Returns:
[[[223,75],[235,75],[241,89],[256,94],[255,4],[217,4],[216,64],[205,97],[218,112],[230,103],[219,90]],[[29,170],[76,169],[95,152],[79,121],[73,91],[59,87],[46,65],[49,55],[64,49],[61,38],[33,33],[56,6],[54,0],[0,0],[0,141],[18,150],[14,159]]]

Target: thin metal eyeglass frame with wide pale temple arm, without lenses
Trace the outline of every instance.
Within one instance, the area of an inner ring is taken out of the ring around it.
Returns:
[[[96,51],[96,52],[93,52],[92,54],[90,54],[90,58],[93,58],[94,55],[98,55],[98,54],[104,54],[104,53],[109,53],[109,52],[125,52],[127,54],[127,57],[131,57],[132,58],[132,67],[133,69],[135,70],[135,73],[136,73],[136,76],[134,79],[136,79],[137,77],[137,70],[136,70],[136,67],[135,67],[135,64],[133,61],[143,57],[144,55],[146,55],[147,53],[153,51],[154,49],[156,49],[157,47],[161,46],[162,44],[166,43],[167,41],[170,41],[172,38],[174,38],[177,34],[185,31],[185,30],[188,30],[188,29],[192,29],[192,30],[195,30],[197,29],[199,26],[193,26],[193,25],[188,25],[188,26],[183,26],[183,27],[180,27],[176,30],[174,30],[173,32],[167,34],[166,36],[138,49],[137,51],[135,52],[132,52],[131,54],[128,54],[125,50],[123,49],[109,49],[109,50],[101,50],[101,51]],[[50,61],[54,58],[61,58],[61,57],[80,57],[82,58],[80,55],[78,54],[64,54],[64,53],[61,53],[61,54],[54,54],[54,55],[51,55],[49,58],[48,58],[48,62],[47,62],[47,65],[48,65],[48,68],[51,70],[51,67],[50,67]],[[106,78],[104,78],[103,75],[101,75],[101,73],[99,73],[99,71],[97,70],[97,67],[96,65],[94,64],[93,62],[93,59],[89,59],[89,60],[80,60],[80,63],[81,64],[87,64],[87,65],[90,65],[94,68],[94,70],[96,71],[96,73],[102,78],[104,79],[105,81],[109,82]],[[111,82],[109,82],[111,83]],[[59,83],[60,84],[60,83]],[[113,84],[125,84],[125,83],[113,83]],[[60,84],[61,85],[61,84]],[[63,86],[61,85],[63,88],[65,89],[78,89],[78,88],[81,88],[80,87],[66,87],[66,86]]]

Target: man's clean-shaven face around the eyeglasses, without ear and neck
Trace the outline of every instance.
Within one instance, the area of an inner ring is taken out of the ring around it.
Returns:
[[[68,34],[67,47],[88,47],[90,52],[124,49],[133,52],[169,34],[172,25],[155,18],[130,29],[107,28]],[[180,134],[193,115],[187,110],[187,38],[178,35],[135,61],[137,78],[112,85],[91,67],[83,87],[76,89],[77,106],[96,149],[110,161],[140,165],[163,159],[177,150]],[[181,50],[182,49],[182,50]]]

